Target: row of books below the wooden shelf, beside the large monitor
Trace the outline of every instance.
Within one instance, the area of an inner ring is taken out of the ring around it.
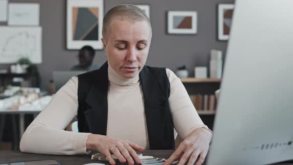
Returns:
[[[217,98],[215,95],[189,95],[191,102],[193,103],[197,111],[216,111]]]

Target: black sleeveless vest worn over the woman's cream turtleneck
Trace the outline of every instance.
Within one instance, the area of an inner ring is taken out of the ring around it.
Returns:
[[[170,83],[165,68],[145,66],[140,72],[151,150],[173,150],[174,127],[169,108]],[[106,135],[108,118],[108,63],[78,75],[78,131]],[[123,117],[123,116],[122,116]]]

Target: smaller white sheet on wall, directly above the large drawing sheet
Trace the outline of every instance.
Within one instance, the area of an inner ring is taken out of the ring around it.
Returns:
[[[39,3],[9,3],[8,25],[33,25],[40,24]]]

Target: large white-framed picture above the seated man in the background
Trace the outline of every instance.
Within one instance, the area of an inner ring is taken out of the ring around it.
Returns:
[[[103,0],[67,0],[67,49],[102,50]]]

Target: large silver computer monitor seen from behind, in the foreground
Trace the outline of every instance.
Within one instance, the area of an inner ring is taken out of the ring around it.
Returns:
[[[293,0],[236,0],[207,165],[293,160]]]

